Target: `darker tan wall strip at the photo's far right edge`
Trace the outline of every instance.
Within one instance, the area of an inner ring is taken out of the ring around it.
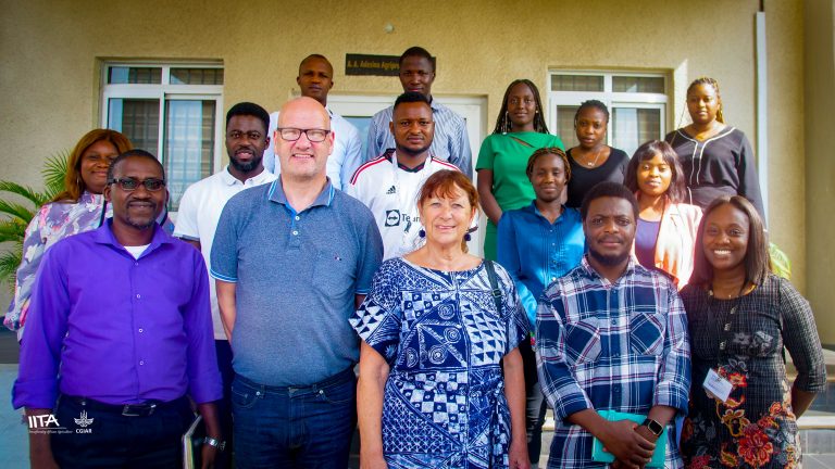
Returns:
[[[807,293],[824,343],[835,343],[835,1],[803,8]]]

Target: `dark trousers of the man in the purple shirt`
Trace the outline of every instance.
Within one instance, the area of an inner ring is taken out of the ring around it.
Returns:
[[[79,428],[74,421],[83,411],[92,422]],[[186,398],[161,405],[149,416],[127,417],[62,396],[54,415],[70,430],[50,440],[62,469],[182,468],[180,438],[195,419]]]

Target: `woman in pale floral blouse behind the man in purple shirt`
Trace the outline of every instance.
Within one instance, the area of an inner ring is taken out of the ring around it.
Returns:
[[[3,321],[9,329],[17,331],[18,340],[41,256],[55,242],[96,229],[111,216],[110,205],[101,194],[108,182],[108,168],[120,153],[132,149],[133,144],[124,135],[115,130],[94,129],[82,137],[70,153],[64,191],[40,207],[26,228],[14,297]]]

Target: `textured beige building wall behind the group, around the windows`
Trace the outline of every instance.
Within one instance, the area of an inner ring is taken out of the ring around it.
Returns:
[[[101,60],[220,60],[225,107],[250,100],[275,110],[312,52],[334,62],[334,92],[400,92],[394,77],[345,76],[345,54],[397,55],[414,45],[437,56],[434,93],[487,98],[485,131],[512,79],[531,78],[545,92],[550,68],[646,69],[673,78],[668,129],[686,123],[687,84],[709,75],[721,84],[728,123],[756,143],[759,3],[0,0],[2,178],[37,185],[48,155],[98,125]],[[802,3],[767,0],[765,9],[771,233],[805,291]]]

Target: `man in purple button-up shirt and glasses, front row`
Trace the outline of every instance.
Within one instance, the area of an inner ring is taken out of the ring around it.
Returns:
[[[32,467],[175,467],[186,394],[210,464],[222,392],[203,258],[154,221],[167,190],[152,154],[120,155],[104,197],[113,218],[55,243],[35,282],[13,389]]]

